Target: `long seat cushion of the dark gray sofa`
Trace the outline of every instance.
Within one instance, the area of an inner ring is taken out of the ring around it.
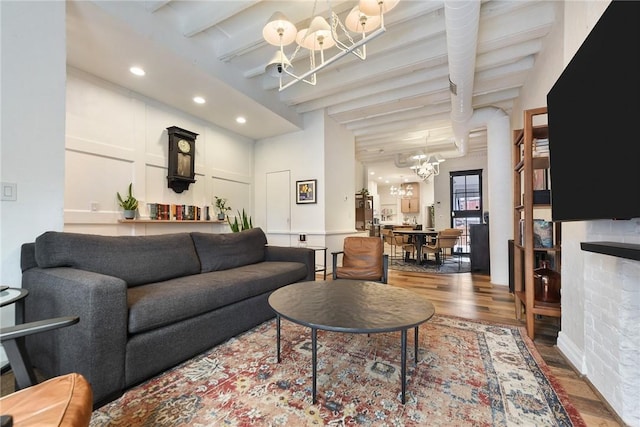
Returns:
[[[266,261],[131,288],[129,333],[195,317],[304,280],[306,275],[303,263]]]

